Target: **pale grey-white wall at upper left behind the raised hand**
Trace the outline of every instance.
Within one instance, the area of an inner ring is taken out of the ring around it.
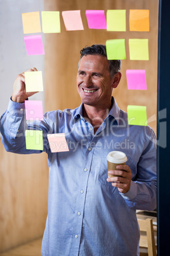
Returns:
[[[22,13],[43,11],[43,0],[0,0],[0,116],[8,106],[16,76],[36,67],[44,75],[44,55],[27,55],[22,26]],[[41,17],[41,13],[40,13]],[[44,43],[44,34],[42,41]],[[32,96],[42,100],[44,92]]]

